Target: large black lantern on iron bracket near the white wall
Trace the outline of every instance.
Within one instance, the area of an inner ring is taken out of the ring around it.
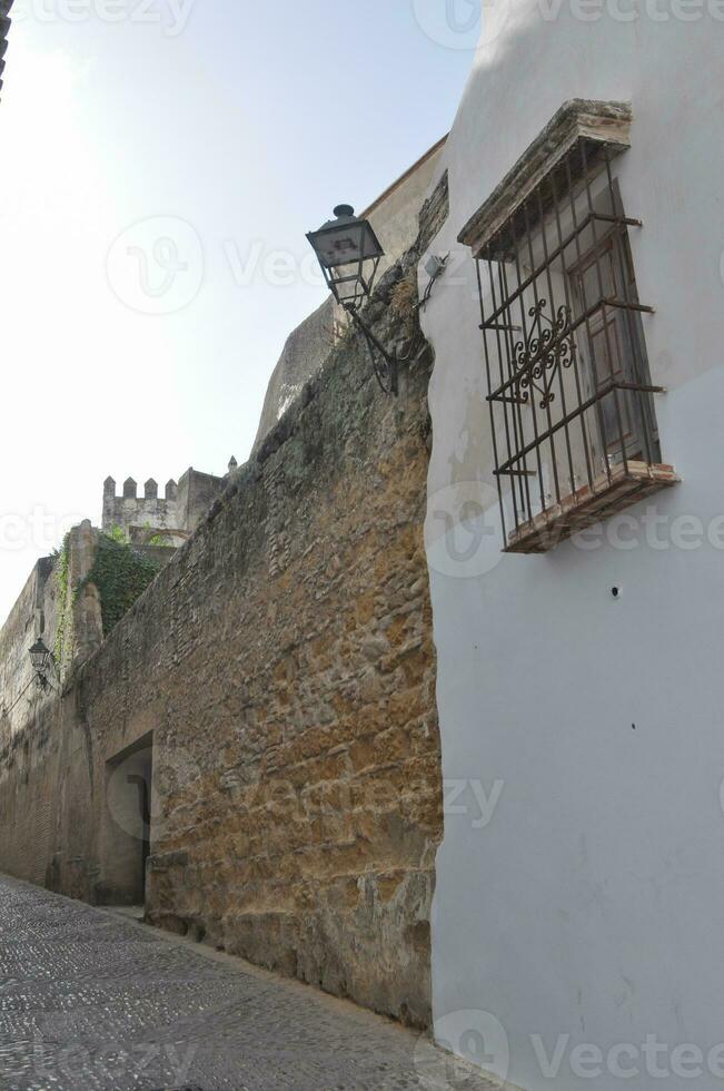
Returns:
[[[369,298],[385,252],[368,219],[355,216],[351,205],[337,205],[335,219],[307,235],[325,274],[327,287],[361,330],[377,382],[386,394],[397,394],[397,355],[388,353],[359,316]],[[381,356],[380,364],[375,351]]]

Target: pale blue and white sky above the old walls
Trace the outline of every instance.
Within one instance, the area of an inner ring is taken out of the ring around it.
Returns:
[[[452,126],[479,0],[16,0],[0,102],[0,618],[102,482],[248,456],[306,232]],[[140,491],[140,489],[139,489]]]

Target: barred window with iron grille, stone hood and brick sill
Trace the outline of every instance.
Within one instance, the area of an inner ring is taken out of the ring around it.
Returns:
[[[615,177],[631,115],[573,102],[460,235],[473,245],[504,548],[543,552],[674,484]]]

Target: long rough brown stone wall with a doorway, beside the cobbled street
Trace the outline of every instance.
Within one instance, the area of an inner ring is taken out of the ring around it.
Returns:
[[[131,897],[109,784],[152,738],[150,920],[423,1025],[442,785],[415,262],[368,311],[407,342],[399,399],[350,335],[0,755],[0,868]]]

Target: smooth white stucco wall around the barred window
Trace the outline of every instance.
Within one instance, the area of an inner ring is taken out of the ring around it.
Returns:
[[[582,10],[603,14],[582,21]],[[632,10],[634,21],[614,18]],[[436,352],[428,556],[448,782],[437,1033],[475,1055],[486,1032],[478,1060],[526,1091],[716,1088],[724,6],[498,0],[484,11],[439,167],[452,213],[430,249],[455,258],[423,316]],[[644,320],[652,379],[670,387],[656,402],[662,453],[683,483],[609,521],[589,538],[598,548],[503,556],[475,272],[455,239],[572,98],[633,105],[633,147],[616,169],[627,214],[644,220],[632,246],[641,298],[657,308]],[[480,498],[493,507],[477,524],[464,502]],[[554,1075],[536,1043],[548,1058],[558,1046]]]

